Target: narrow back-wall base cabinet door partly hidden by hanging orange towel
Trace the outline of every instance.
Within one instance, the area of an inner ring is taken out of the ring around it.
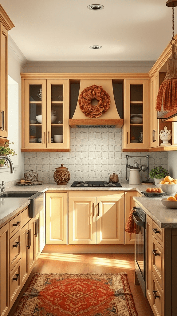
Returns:
[[[128,221],[130,211],[135,206],[135,201],[133,197],[137,196],[137,191],[125,192],[125,225]],[[129,234],[125,232],[125,245],[134,245],[134,234]]]

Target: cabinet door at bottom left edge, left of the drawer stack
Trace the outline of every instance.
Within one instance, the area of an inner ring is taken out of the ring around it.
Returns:
[[[0,228],[0,315],[9,313],[9,223]]]

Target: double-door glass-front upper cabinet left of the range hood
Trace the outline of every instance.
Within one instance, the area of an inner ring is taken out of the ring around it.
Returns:
[[[24,80],[24,148],[68,146],[68,80]]]

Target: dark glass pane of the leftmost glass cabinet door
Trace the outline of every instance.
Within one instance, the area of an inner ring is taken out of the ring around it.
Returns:
[[[41,143],[42,139],[42,85],[30,84],[29,87],[29,142]]]

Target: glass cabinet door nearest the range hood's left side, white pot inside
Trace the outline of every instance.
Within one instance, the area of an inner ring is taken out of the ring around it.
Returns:
[[[47,147],[68,147],[68,80],[47,79]]]

